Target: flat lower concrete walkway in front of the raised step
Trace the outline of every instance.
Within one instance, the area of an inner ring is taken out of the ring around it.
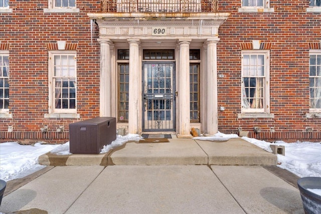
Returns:
[[[56,166],[3,198],[11,213],[304,213],[261,166]]]

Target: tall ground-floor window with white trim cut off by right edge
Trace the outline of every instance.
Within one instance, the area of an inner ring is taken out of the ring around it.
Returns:
[[[310,112],[321,112],[321,51],[309,54]]]

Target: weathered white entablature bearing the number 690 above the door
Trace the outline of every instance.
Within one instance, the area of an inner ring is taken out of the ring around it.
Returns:
[[[164,15],[164,14],[163,14]],[[124,40],[128,38],[158,39],[213,39],[218,38],[219,27],[228,13],[193,13],[190,16],[172,17],[141,13],[88,14],[99,27],[99,38]]]

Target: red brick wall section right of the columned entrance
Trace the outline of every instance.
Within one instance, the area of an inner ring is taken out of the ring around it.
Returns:
[[[308,1],[270,1],[274,13],[239,13],[241,1],[219,1],[219,11],[230,13],[220,27],[218,43],[218,106],[219,130],[237,133],[237,128],[253,132],[258,126],[262,133],[256,138],[268,139],[270,127],[275,139],[304,140],[306,127],[321,132],[321,118],[307,119],[309,113],[309,46],[321,40],[321,14],[306,13]],[[242,118],[241,113],[241,43],[261,40],[270,43],[270,113],[273,119]],[[264,133],[266,132],[266,133]],[[301,135],[287,136],[283,133]],[[311,135],[312,136],[312,135]],[[321,140],[313,134],[312,141]],[[306,138],[307,139],[307,138]]]

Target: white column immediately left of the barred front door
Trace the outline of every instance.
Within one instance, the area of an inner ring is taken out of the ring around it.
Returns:
[[[139,67],[139,40],[129,43],[129,102],[128,133],[139,134],[141,124],[141,68]]]

